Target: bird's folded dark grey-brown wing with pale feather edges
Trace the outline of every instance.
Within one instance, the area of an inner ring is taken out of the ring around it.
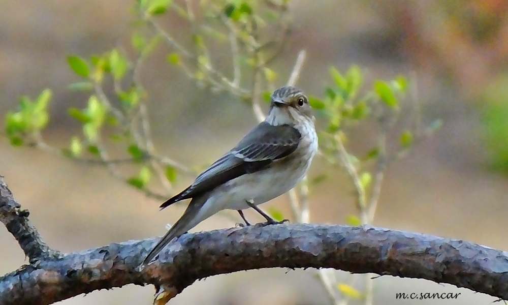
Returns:
[[[300,132],[289,125],[272,126],[260,123],[227,154],[201,173],[193,184],[161,205],[165,208],[177,201],[209,192],[229,180],[265,168],[284,158],[298,147]]]

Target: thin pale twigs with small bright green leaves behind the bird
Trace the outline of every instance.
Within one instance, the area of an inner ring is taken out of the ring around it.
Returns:
[[[148,94],[143,86],[144,61],[159,44],[166,44],[171,49],[166,55],[170,68],[180,69],[203,89],[236,97],[262,121],[263,107],[279,77],[271,64],[280,57],[291,32],[288,3],[216,0],[197,5],[186,0],[180,5],[170,0],[137,0],[137,27],[129,48],[117,47],[88,58],[67,58],[69,67],[81,78],[69,88],[90,93],[82,108],[69,109],[81,125],[81,133],[73,135],[67,147],[46,142],[43,134],[49,122],[51,90],[45,89],[34,100],[21,97],[19,110],[7,114],[7,137],[13,146],[35,146],[76,162],[104,166],[114,178],[148,197],[164,200],[174,193],[173,184],[179,175],[197,172],[160,154],[153,142]],[[163,26],[164,15],[178,16],[187,22],[189,41],[179,41]],[[210,51],[212,45],[231,54],[230,67],[217,68],[217,59]],[[300,51],[287,84],[297,83],[305,58],[306,52]],[[333,84],[325,88],[324,96],[309,97],[319,123],[325,126],[319,131],[320,156],[330,165],[342,168],[352,181],[358,215],[349,215],[345,221],[354,226],[369,225],[374,221],[386,168],[431,135],[440,121],[421,127],[416,83],[410,84],[405,77],[375,80],[364,88],[364,73],[357,66],[344,74],[331,67],[330,75]],[[412,115],[405,115],[411,85],[414,107],[410,109]],[[400,126],[402,117],[414,117],[414,121]],[[353,154],[347,148],[352,130],[371,123],[377,131],[375,142],[367,151]],[[121,154],[115,153],[118,148]],[[132,165],[136,166],[134,173]],[[309,189],[324,178],[325,175],[305,177],[288,193],[295,221],[311,221]],[[157,186],[162,186],[162,191]],[[277,210],[271,214],[275,219],[283,218]],[[350,283],[339,283],[333,270],[321,269],[318,275],[335,304],[346,304],[355,298],[372,304],[370,276],[365,277],[366,290],[359,292],[353,287],[356,277],[351,277]]]

